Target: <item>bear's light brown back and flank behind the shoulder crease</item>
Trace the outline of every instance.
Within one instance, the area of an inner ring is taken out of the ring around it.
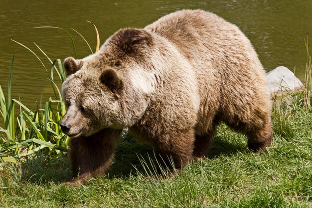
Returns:
[[[203,10],[181,10],[161,17],[145,29],[170,41],[192,66],[201,99],[195,128],[198,132],[213,122],[207,118],[213,119],[217,114],[222,118],[235,117],[241,110],[237,102],[248,111],[254,105],[250,100],[269,100],[263,66],[236,25]],[[259,108],[270,109],[270,102]]]

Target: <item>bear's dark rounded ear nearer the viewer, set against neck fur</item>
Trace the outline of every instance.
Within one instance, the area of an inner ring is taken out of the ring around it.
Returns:
[[[106,69],[100,75],[100,82],[107,86],[113,93],[120,94],[123,88],[123,81],[116,70]]]

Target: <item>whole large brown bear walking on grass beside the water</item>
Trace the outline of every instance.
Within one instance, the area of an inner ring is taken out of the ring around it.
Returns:
[[[125,128],[176,169],[207,155],[220,122],[244,133],[253,151],[271,144],[263,66],[240,29],[213,13],[181,10],[121,29],[64,68],[60,126],[71,137],[74,178],[105,173]]]

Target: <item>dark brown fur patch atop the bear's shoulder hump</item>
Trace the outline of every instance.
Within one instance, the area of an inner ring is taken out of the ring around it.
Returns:
[[[153,36],[148,31],[136,28],[121,29],[113,36],[113,39],[127,54],[139,52],[138,49],[154,44]]]

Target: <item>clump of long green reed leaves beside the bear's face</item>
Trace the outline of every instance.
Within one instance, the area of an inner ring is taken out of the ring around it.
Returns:
[[[100,39],[98,30],[95,25],[94,27],[97,35],[97,51],[99,50]],[[71,39],[74,54],[77,58],[75,42],[69,31],[60,27],[51,26],[36,28],[54,28],[65,31]],[[77,30],[71,29],[84,39],[91,53],[93,53],[87,40]],[[65,80],[62,61],[60,59],[53,61],[44,50],[34,43],[48,60],[50,68],[47,68],[43,63],[44,61],[41,60],[33,50],[18,41],[12,41],[29,50],[40,61],[47,72],[47,79],[51,82],[54,96],[53,98],[50,97],[48,101],[42,102],[42,100],[40,100],[40,102],[34,103],[31,109],[23,105],[20,100],[12,99],[11,80],[15,57],[15,55],[13,55],[9,71],[7,95],[4,95],[0,86],[0,113],[4,123],[4,126],[0,127],[0,164],[1,162],[16,163],[18,161],[24,161],[27,157],[38,152],[44,153],[47,157],[57,158],[67,152],[69,142],[69,138],[62,133],[59,126],[66,113],[60,89],[56,84],[57,81],[63,82]],[[15,110],[17,109],[18,111],[16,112]],[[18,116],[15,118],[16,114],[18,114]]]

